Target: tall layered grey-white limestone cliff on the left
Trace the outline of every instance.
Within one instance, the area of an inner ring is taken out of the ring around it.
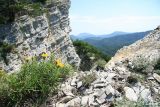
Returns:
[[[8,64],[0,61],[3,69],[16,71],[26,56],[39,56],[42,52],[54,53],[63,63],[78,67],[80,59],[69,37],[69,7],[70,0],[57,0],[56,4],[47,4],[48,12],[40,16],[24,15],[0,26],[0,41],[15,46],[14,52],[7,54]]]

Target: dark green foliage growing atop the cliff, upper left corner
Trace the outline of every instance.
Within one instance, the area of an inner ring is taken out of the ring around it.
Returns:
[[[0,0],[0,24],[13,22],[18,13],[29,14],[31,16],[39,15],[43,7],[42,4],[46,1],[47,0]],[[43,13],[43,11],[41,11],[41,13]]]

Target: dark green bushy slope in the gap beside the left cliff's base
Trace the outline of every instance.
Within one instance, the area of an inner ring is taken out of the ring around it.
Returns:
[[[86,42],[77,40],[73,42],[73,45],[76,48],[77,54],[81,58],[81,70],[90,70],[95,65],[103,68],[104,65],[110,60],[108,55],[103,54]]]

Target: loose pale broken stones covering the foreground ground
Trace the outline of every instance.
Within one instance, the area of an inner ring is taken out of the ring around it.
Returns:
[[[86,85],[87,81],[91,83]],[[49,98],[46,105],[42,106],[114,107],[116,102],[123,101],[124,98],[133,102],[142,100],[156,104],[160,98],[158,82],[160,82],[158,74],[153,74],[144,82],[140,82],[129,72],[123,74],[104,70],[79,72],[64,82],[58,94]]]

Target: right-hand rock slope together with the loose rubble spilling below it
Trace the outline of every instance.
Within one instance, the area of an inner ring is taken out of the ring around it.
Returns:
[[[160,27],[144,39],[119,50],[106,65],[105,70],[76,72],[60,85],[58,94],[49,98],[44,105],[156,106],[160,100],[160,76],[154,73],[154,65],[159,58]],[[119,102],[121,105],[118,105]]]

